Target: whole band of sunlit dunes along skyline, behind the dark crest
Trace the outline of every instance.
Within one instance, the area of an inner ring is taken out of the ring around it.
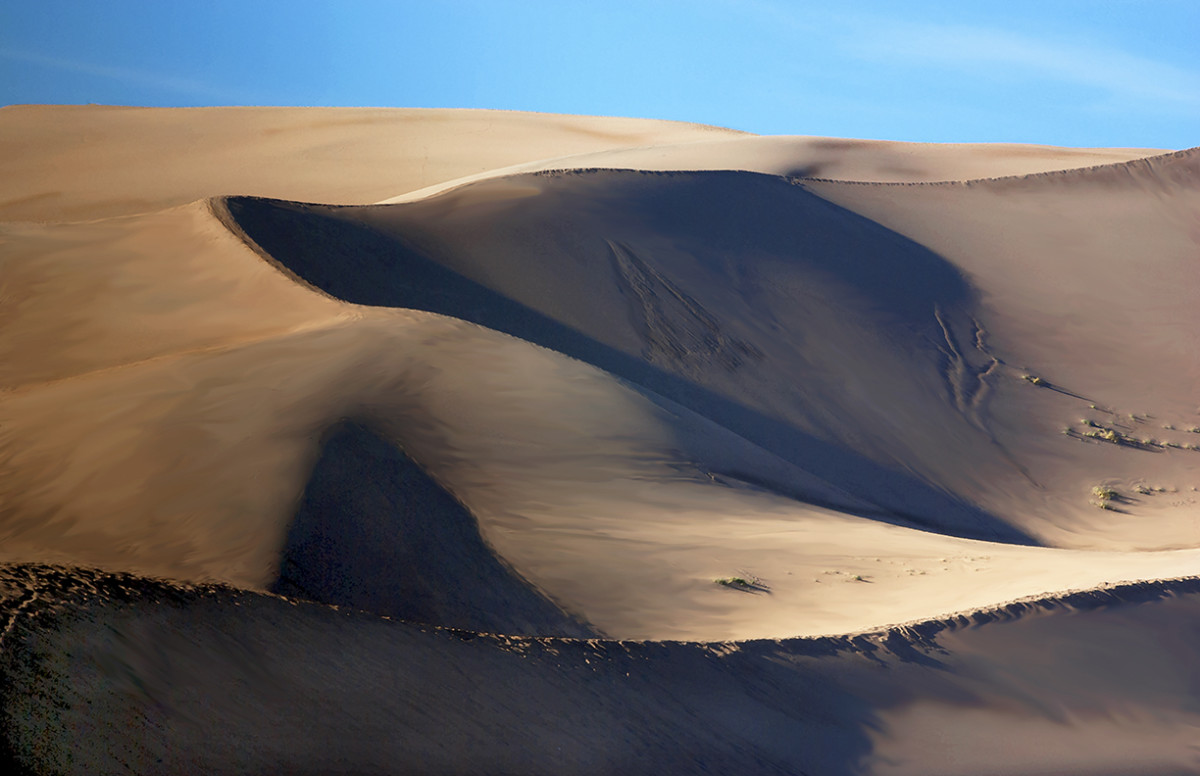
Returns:
[[[0,108],[0,221],[83,221],[223,194],[366,204],[530,169],[964,180],[1156,152],[755,137],[678,121],[511,110],[7,106]]]

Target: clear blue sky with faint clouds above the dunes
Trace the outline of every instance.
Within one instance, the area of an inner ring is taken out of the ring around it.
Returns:
[[[1200,145],[1200,2],[5,0],[0,104],[506,108]]]

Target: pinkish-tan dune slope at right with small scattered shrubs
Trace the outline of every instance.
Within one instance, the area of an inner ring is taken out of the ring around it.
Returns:
[[[1097,510],[1014,492],[1014,507],[1098,545],[1200,543],[1200,149],[968,184],[804,186],[983,289],[994,353],[1040,380],[998,393],[992,428],[1045,492],[1123,494]]]

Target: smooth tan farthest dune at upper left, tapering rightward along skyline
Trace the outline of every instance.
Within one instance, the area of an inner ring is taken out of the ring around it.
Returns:
[[[220,194],[361,204],[546,157],[742,134],[678,121],[402,108],[0,108],[0,221]]]

